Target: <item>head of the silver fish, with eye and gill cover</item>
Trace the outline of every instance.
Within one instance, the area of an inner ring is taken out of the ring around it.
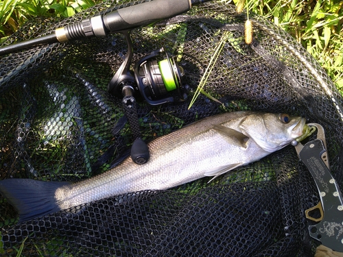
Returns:
[[[288,114],[255,113],[239,125],[242,133],[270,153],[277,151],[304,133],[306,119]]]

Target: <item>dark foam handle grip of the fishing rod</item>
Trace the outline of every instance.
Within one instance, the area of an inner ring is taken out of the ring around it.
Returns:
[[[110,12],[103,21],[110,32],[119,32],[171,18],[190,8],[189,0],[154,0]]]

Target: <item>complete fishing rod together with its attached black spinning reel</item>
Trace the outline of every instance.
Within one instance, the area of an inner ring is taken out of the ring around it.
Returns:
[[[124,113],[134,137],[131,158],[137,164],[144,164],[150,158],[150,151],[141,139],[134,95],[143,96],[150,105],[185,101],[187,95],[182,92],[182,68],[174,58],[169,58],[163,48],[153,51],[137,62],[134,71],[130,71],[133,50],[130,30],[182,14],[190,10],[192,5],[207,1],[211,0],[154,0],[132,5],[91,19],[84,19],[80,23],[59,27],[53,34],[47,36],[2,47],[0,56],[34,45],[68,42],[90,36],[106,36],[109,33],[123,34],[128,43],[128,53],[108,84],[108,93],[122,99]]]

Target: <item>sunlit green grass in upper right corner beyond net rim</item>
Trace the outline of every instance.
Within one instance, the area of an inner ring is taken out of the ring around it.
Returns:
[[[248,10],[265,16],[296,38],[343,91],[342,1],[248,0]]]

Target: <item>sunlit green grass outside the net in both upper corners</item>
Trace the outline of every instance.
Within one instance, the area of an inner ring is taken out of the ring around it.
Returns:
[[[1,0],[0,42],[36,16],[72,16],[104,0]],[[171,0],[172,1],[172,0]],[[241,0],[233,0],[235,4]],[[311,53],[343,95],[343,1],[244,0]]]

